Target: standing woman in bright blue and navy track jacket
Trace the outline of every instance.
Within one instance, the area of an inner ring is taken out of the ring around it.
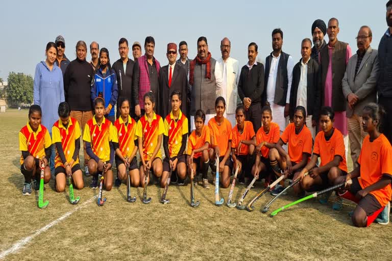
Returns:
[[[118,96],[117,77],[110,66],[109,51],[105,47],[100,51],[100,63],[95,70],[94,80],[91,99],[94,101],[98,96],[104,98],[105,117],[114,123],[114,105]]]

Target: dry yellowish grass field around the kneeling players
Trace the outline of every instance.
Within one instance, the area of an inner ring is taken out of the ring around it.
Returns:
[[[321,205],[309,200],[271,218],[260,212],[272,198],[269,194],[249,213],[226,206],[229,189],[220,190],[225,204],[217,207],[212,186],[209,190],[196,186],[195,198],[201,204],[192,208],[189,185],[170,186],[167,205],[159,203],[162,189],[149,186],[153,200],[143,205],[142,189],[132,188],[137,201],[128,203],[123,184],[104,191],[107,202],[99,207],[93,198],[97,190],[88,188],[91,177],[85,177],[85,188],[75,190],[81,197],[78,205],[68,202],[68,188],[65,193],[55,192],[51,180],[44,193],[50,204],[40,210],[37,193],[21,194],[18,131],[26,124],[27,114],[26,110],[0,114],[0,259],[390,260],[392,226],[352,226],[348,213],[354,205],[348,201],[337,212],[331,209],[332,202]],[[245,202],[261,189],[257,184]],[[244,190],[236,186],[233,198],[237,201]],[[293,199],[289,193],[270,210]]]

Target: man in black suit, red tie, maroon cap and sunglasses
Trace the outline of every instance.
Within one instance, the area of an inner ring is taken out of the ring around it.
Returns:
[[[178,90],[181,92],[181,112],[188,115],[186,108],[187,100],[187,76],[185,69],[176,63],[177,59],[177,44],[167,44],[167,60],[169,64],[163,66],[159,70],[159,107],[157,108],[158,114],[166,117],[171,111],[170,95],[173,91]]]

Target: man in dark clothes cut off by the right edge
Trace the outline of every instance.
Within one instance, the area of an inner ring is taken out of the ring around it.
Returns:
[[[382,132],[392,143],[392,0],[386,3],[388,29],[378,45],[380,74],[377,81],[378,103],[384,107],[385,116]]]

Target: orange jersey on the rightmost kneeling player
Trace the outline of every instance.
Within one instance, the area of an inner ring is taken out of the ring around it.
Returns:
[[[383,174],[392,176],[392,147],[385,135],[381,134],[373,142],[369,135],[363,139],[358,164],[361,176],[358,178],[362,189],[369,187],[379,181]],[[390,185],[382,189],[370,192],[378,200],[381,206],[388,204],[391,200],[392,189]]]

